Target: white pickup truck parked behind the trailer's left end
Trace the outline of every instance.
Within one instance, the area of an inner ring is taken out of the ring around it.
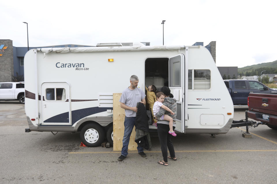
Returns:
[[[25,103],[23,82],[0,83],[0,101],[19,100],[21,104]]]

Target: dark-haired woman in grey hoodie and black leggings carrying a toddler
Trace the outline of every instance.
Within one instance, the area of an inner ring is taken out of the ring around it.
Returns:
[[[158,128],[158,136],[161,144],[162,156],[163,160],[160,160],[158,163],[164,166],[168,166],[168,158],[172,160],[177,160],[175,156],[175,151],[173,144],[171,142],[171,137],[173,134],[169,133],[169,121],[160,120],[160,118],[164,115],[168,115],[173,119],[173,129],[176,127],[176,112],[177,112],[177,103],[173,98],[173,95],[170,93],[170,89],[167,86],[161,88],[161,92],[164,94],[163,105],[168,107],[171,112],[166,111],[163,108],[156,113],[156,118],[158,119],[157,128]],[[173,112],[173,113],[172,113]],[[176,136],[176,134],[175,134]],[[170,156],[167,156],[167,148],[169,150]]]

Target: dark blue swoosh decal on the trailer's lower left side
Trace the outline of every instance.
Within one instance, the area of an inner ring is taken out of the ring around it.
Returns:
[[[113,110],[112,107],[108,107],[108,108],[91,107],[91,108],[78,109],[78,110],[71,111],[71,118],[72,118],[71,126],[72,126],[72,124],[74,124],[75,122],[77,122],[78,120],[80,120],[82,118],[85,118],[92,114],[97,114],[99,112],[105,112],[108,109]],[[65,112],[65,113],[53,116],[51,118],[48,118],[47,120],[44,121],[44,123],[68,123],[68,119],[69,119],[69,113]],[[44,126],[44,125],[41,125],[41,126]]]

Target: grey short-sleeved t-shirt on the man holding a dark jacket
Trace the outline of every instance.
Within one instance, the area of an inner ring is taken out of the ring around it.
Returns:
[[[130,90],[128,87],[127,89],[124,89],[124,91],[122,92],[119,101],[128,107],[136,107],[136,104],[142,101],[144,97],[145,94],[140,88],[136,87],[135,89]],[[136,117],[136,112],[125,109],[125,116]]]

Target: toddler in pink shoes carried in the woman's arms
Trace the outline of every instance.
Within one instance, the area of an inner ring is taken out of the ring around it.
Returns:
[[[153,112],[154,112],[154,116],[156,117],[157,112],[159,112],[160,108],[163,108],[164,110],[170,112],[170,114],[174,115],[175,113],[172,112],[172,110],[170,110],[168,107],[166,107],[165,105],[162,104],[162,102],[164,101],[164,93],[162,92],[158,92],[156,94],[157,96],[157,101],[154,103],[153,106]],[[169,116],[164,114],[162,117],[160,117],[160,120],[166,120],[169,121],[169,134],[176,136],[177,134],[173,131],[173,119]]]

